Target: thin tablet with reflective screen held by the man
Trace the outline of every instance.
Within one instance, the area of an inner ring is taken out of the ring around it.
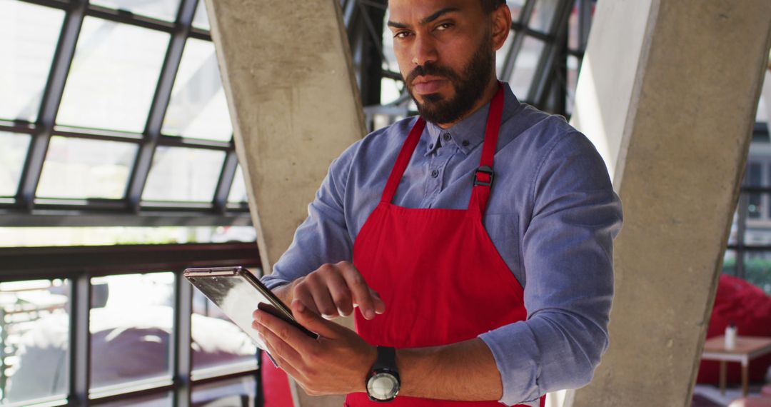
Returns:
[[[260,340],[257,331],[251,328],[255,309],[287,321],[311,338],[318,338],[318,335],[295,321],[287,305],[244,267],[188,268],[183,276],[264,351],[268,348]]]

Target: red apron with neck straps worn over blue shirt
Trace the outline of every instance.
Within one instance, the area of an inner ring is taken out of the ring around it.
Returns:
[[[395,348],[447,345],[527,318],[524,291],[500,257],[482,220],[492,183],[493,156],[503,113],[503,89],[487,117],[480,170],[467,210],[411,209],[391,204],[426,122],[419,118],[396,159],[382,199],[353,247],[353,264],[385,301],[385,313],[368,321],[356,315],[356,331],[369,344]],[[483,170],[487,166],[490,172]],[[473,181],[473,182],[472,182]],[[545,398],[540,399],[544,405]],[[345,405],[382,406],[362,392]],[[389,405],[499,406],[399,395]]]

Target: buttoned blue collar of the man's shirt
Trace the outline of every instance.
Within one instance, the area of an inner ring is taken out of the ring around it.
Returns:
[[[511,92],[509,84],[503,82],[503,115],[501,116],[501,123],[514,116],[520,109],[520,106],[521,104],[517,97],[514,96],[514,93]],[[436,123],[426,122],[426,132],[423,133],[423,137],[428,137],[428,143],[426,143],[426,153],[424,153],[424,156],[428,156],[439,148],[439,143],[443,145],[449,143],[449,141],[444,141],[442,138],[445,133],[449,133],[451,140],[463,154],[469,155],[471,150],[484,141],[484,132],[487,128],[487,113],[489,112],[490,103],[488,102],[466,117],[466,119],[455,123],[449,129],[442,129],[436,126]]]

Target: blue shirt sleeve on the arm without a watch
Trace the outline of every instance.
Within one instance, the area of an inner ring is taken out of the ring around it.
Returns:
[[[352,241],[345,224],[343,197],[352,155],[359,143],[348,147],[329,166],[328,173],[308,205],[308,217],[295,230],[291,245],[261,280],[268,288],[301,278],[325,263],[350,261]]]

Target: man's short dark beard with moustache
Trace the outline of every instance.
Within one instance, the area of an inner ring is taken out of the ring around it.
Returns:
[[[460,74],[449,67],[434,63],[417,66],[405,79],[409,96],[415,100],[420,116],[426,121],[439,124],[456,122],[470,113],[476,102],[482,98],[485,87],[493,76],[494,63],[493,45],[490,41],[484,41]],[[448,79],[455,89],[455,96],[446,98],[439,93],[429,93],[423,95],[423,103],[420,103],[412,92],[412,81],[418,76],[426,75]]]

